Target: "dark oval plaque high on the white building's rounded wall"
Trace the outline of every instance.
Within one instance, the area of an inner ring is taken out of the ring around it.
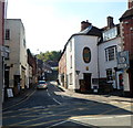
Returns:
[[[83,49],[83,61],[85,63],[90,63],[91,62],[91,50],[89,47],[84,47]]]

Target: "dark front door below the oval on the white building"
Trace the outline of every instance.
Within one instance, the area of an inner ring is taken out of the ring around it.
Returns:
[[[90,73],[84,73],[83,77],[84,77],[85,90],[89,92],[89,90],[91,90],[91,74]]]

